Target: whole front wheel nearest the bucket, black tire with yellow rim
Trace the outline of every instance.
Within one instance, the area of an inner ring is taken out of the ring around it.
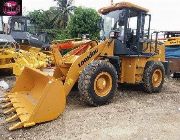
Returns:
[[[81,99],[93,106],[112,100],[117,89],[117,72],[114,66],[104,60],[94,61],[81,73],[78,81]]]

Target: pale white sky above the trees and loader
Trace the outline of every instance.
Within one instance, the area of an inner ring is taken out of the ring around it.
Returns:
[[[103,6],[110,5],[111,0],[74,0],[75,6],[83,6],[98,10]],[[151,29],[180,30],[180,1],[179,0],[126,0],[138,4],[150,10],[152,15]],[[114,3],[121,2],[114,0]],[[23,11],[44,9],[56,6],[53,0],[23,0]]]

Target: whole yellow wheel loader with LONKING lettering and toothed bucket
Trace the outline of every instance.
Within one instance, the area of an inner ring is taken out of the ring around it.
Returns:
[[[148,93],[161,91],[165,52],[162,44],[149,39],[148,10],[123,2],[99,13],[104,41],[89,41],[86,47],[81,45],[64,56],[53,44],[56,69],[52,77],[36,69],[24,69],[2,100],[6,122],[15,122],[9,130],[56,119],[76,83],[83,101],[92,106],[112,101],[118,83],[142,84]]]

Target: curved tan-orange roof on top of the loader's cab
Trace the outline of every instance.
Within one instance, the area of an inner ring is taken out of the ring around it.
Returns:
[[[99,9],[98,12],[104,15],[104,14],[107,14],[107,13],[115,11],[115,10],[122,10],[123,8],[130,8],[130,9],[142,11],[145,13],[149,12],[148,9],[143,8],[141,6],[138,6],[138,5],[135,5],[135,4],[130,3],[130,2],[120,2],[120,3],[116,3],[116,4],[113,4],[113,5],[108,6],[108,7],[103,7],[101,9]]]

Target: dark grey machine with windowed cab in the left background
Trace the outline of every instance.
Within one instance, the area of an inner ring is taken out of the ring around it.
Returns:
[[[50,48],[51,36],[37,29],[29,17],[13,16],[9,18],[9,33],[21,45],[32,45],[46,50]]]

